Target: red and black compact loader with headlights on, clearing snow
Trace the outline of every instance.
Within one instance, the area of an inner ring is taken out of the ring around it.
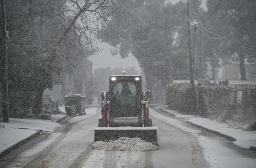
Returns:
[[[157,127],[149,119],[150,91],[142,92],[141,76],[109,77],[108,92],[101,92],[101,115],[94,128],[94,142],[134,138],[158,145]]]

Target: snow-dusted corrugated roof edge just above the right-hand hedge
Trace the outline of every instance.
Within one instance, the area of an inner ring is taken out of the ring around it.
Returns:
[[[211,83],[219,84],[221,80],[210,80]],[[228,80],[228,85],[256,85],[256,80]],[[189,80],[173,80],[173,83],[190,83]],[[197,81],[195,80],[195,85]]]

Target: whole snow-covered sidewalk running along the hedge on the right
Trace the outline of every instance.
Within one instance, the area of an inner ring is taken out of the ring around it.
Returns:
[[[192,125],[233,141],[234,145],[240,148],[256,151],[256,131],[243,131],[242,129],[230,128],[225,123],[197,117],[195,115],[183,115],[167,108],[158,108],[156,110],[167,116],[183,118]]]

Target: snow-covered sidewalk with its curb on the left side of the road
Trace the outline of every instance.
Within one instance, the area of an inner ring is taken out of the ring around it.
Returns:
[[[51,115],[51,120],[14,119],[9,123],[0,122],[0,158],[20,145],[42,133],[50,133],[61,125],[67,115]]]

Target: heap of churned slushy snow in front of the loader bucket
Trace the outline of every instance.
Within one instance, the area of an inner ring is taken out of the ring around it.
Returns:
[[[137,137],[121,137],[109,142],[97,141],[92,144],[92,148],[106,151],[155,151],[159,149],[158,146]]]

